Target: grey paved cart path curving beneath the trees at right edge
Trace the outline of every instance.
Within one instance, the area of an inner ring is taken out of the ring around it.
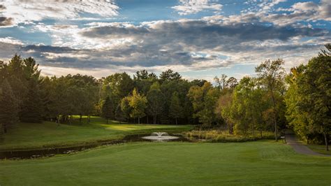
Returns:
[[[286,138],[286,143],[290,145],[295,150],[295,152],[299,154],[331,157],[330,155],[323,155],[318,152],[314,152],[306,145],[304,145],[301,141],[297,140],[294,134],[286,134],[285,138]]]

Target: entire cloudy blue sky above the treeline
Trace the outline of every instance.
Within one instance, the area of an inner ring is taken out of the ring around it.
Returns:
[[[0,0],[0,59],[32,56],[47,76],[241,78],[265,59],[307,62],[330,31],[330,0]]]

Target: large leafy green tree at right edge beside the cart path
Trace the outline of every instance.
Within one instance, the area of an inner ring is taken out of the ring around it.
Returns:
[[[289,92],[286,94],[287,119],[297,134],[322,134],[325,148],[331,132],[331,45],[307,66],[292,69]],[[293,94],[293,95],[291,95]]]

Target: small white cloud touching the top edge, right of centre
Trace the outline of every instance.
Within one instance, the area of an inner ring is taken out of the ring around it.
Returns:
[[[189,15],[203,10],[221,11],[223,6],[210,0],[179,0],[179,5],[173,6],[179,15]]]

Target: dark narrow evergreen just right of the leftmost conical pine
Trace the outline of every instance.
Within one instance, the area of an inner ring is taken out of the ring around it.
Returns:
[[[22,122],[41,122],[43,117],[43,101],[41,91],[36,80],[29,80],[27,96],[20,111]]]

